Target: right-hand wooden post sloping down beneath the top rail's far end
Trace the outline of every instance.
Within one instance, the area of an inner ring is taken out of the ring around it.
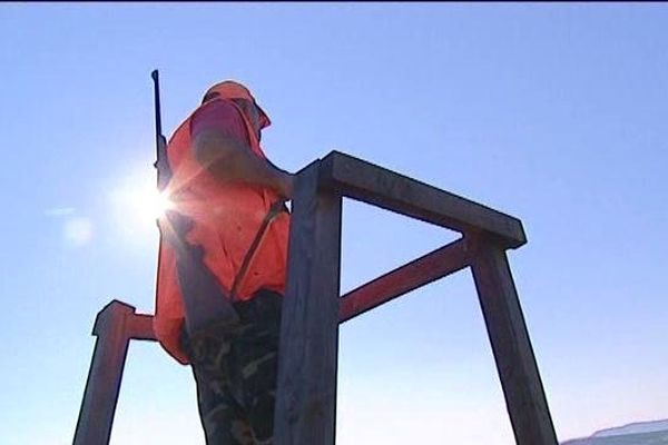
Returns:
[[[557,445],[505,251],[492,238],[473,239],[473,279],[518,445]]]

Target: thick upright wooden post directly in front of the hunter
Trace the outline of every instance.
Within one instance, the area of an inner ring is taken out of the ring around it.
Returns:
[[[296,178],[283,306],[276,445],[333,445],[336,423],[340,195],[318,189],[320,161]]]

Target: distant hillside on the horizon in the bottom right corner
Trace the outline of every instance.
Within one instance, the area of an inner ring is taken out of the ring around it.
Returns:
[[[562,445],[668,445],[668,419],[602,429],[591,437],[567,441]]]

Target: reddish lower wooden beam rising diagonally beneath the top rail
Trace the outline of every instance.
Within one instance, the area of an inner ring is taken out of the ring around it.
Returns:
[[[458,239],[351,290],[340,301],[341,323],[469,266],[464,239]]]

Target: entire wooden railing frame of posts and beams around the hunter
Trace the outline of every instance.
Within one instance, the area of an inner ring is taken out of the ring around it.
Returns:
[[[342,198],[462,237],[340,296]],[[333,445],[338,325],[470,267],[519,445],[557,445],[505,250],[527,243],[519,219],[333,151],[296,176],[283,307],[274,444]],[[150,316],[112,301],[98,336],[75,445],[108,444],[129,339],[155,339]]]

